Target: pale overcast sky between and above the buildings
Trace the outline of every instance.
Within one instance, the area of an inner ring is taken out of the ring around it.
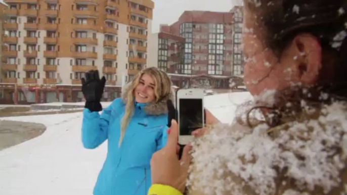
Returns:
[[[159,31],[160,24],[172,24],[184,11],[201,10],[228,12],[240,0],[152,0],[154,2],[153,32]]]

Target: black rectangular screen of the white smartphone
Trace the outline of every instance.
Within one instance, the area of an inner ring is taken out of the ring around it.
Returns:
[[[180,135],[191,135],[203,127],[202,99],[180,99]]]

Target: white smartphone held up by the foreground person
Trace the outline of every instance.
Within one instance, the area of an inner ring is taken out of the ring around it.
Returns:
[[[179,143],[186,145],[192,132],[204,127],[204,90],[198,88],[177,91]]]

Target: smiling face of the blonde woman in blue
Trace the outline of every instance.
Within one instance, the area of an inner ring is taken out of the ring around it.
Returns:
[[[151,103],[155,100],[155,80],[148,74],[143,74],[135,87],[137,103]]]

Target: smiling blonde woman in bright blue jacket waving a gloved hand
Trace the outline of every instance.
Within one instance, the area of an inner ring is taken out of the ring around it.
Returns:
[[[98,71],[82,79],[84,148],[95,149],[108,140],[94,194],[146,194],[151,185],[151,157],[166,143],[166,102],[173,97],[170,79],[156,68],[142,70],[123,88],[122,97],[100,115],[104,86],[105,78],[100,79]]]

